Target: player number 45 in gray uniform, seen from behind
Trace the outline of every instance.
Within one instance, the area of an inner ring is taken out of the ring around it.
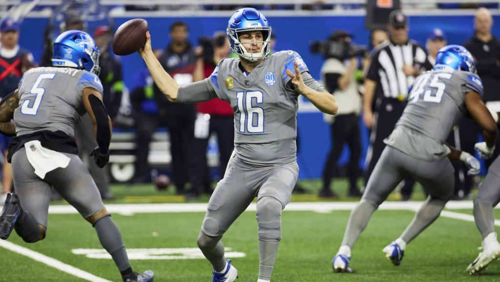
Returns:
[[[413,176],[429,192],[406,230],[383,248],[385,256],[399,265],[406,244],[430,225],[451,198],[453,167],[460,159],[469,173],[478,173],[478,161],[444,142],[464,115],[482,128],[484,150],[493,151],[496,124],[481,100],[482,83],[475,74],[470,53],[458,45],[441,48],[432,71],[420,75],[409,94],[408,104],[371,174],[361,201],[352,210],[341,246],[333,257],[333,270],[350,272],[350,249],[368,224],[371,214],[406,175]]]

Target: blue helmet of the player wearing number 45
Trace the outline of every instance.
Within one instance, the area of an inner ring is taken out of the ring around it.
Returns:
[[[447,45],[439,49],[433,70],[453,69],[476,73],[474,58],[460,45]]]

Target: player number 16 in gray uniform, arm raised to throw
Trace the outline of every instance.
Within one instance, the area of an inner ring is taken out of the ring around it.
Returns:
[[[297,97],[336,114],[335,99],[308,73],[296,52],[269,53],[271,27],[253,8],[229,19],[227,36],[239,58],[222,59],[210,77],[183,85],[161,68],[151,52],[149,33],[139,55],[167,98],[196,103],[215,97],[234,110],[234,151],[208,202],[198,246],[213,265],[213,282],[232,282],[237,270],[224,257],[220,239],[257,197],[258,282],[270,281],[281,239],[281,210],[290,201],[298,176],[296,162]]]

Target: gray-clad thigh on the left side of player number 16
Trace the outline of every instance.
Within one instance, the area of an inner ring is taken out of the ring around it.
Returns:
[[[231,158],[224,178],[217,183],[208,201],[201,230],[208,236],[224,234],[236,218],[248,207],[256,192],[247,185],[248,168]]]

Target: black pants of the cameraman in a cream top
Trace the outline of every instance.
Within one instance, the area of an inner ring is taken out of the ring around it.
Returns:
[[[337,167],[337,161],[342,153],[343,145],[347,142],[350,151],[349,163],[347,165],[347,178],[349,190],[357,191],[356,182],[358,177],[358,163],[361,156],[361,141],[359,134],[359,116],[356,114],[339,115],[330,126],[331,149],[323,168],[322,189],[329,190],[331,178]]]

